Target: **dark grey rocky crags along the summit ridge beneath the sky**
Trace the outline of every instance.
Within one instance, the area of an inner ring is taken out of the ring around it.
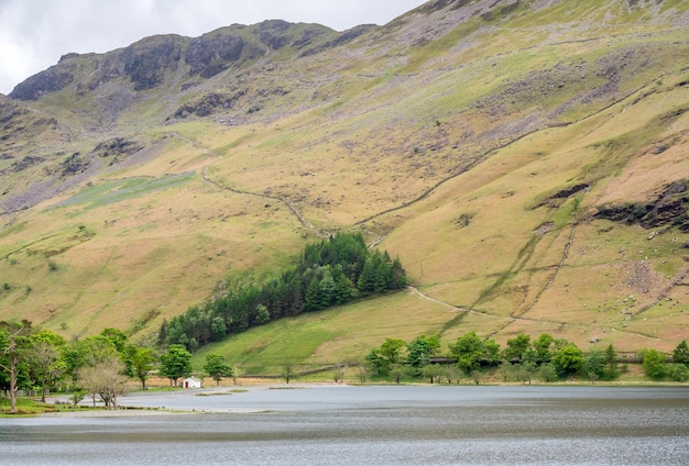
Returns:
[[[118,78],[127,78],[134,91],[144,91],[162,85],[179,68],[188,78],[207,79],[284,47],[322,48],[328,41],[337,46],[356,35],[356,32],[338,34],[325,26],[285,21],[233,25],[195,38],[160,35],[102,55],[67,54],[57,65],[18,85],[9,97],[36,100],[73,84],[83,93]],[[341,38],[338,41],[338,37]]]

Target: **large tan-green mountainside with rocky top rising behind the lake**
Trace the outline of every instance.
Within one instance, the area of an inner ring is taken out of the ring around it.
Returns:
[[[689,331],[688,24],[680,0],[435,0],[384,26],[67,54],[0,96],[0,318],[152,339],[361,231],[413,287],[247,354],[469,331],[669,351]]]

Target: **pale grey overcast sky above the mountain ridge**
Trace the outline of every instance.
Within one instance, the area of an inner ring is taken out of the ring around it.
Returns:
[[[189,37],[263,20],[338,31],[385,24],[424,0],[0,0],[0,93],[70,52],[103,53],[153,34]]]

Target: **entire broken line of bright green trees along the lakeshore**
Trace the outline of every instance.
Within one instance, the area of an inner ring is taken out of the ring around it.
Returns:
[[[638,356],[646,376],[654,380],[689,380],[687,341],[677,345],[669,360],[657,350],[644,348]],[[51,331],[32,328],[28,321],[0,322],[0,390],[10,399],[13,413],[19,390],[40,390],[43,401],[51,390],[70,391],[75,406],[89,397],[94,404],[101,400],[107,408],[116,408],[118,397],[127,393],[132,380],[145,389],[149,378],[157,374],[177,386],[178,379],[192,375],[193,369],[192,353],[183,345],[172,344],[158,354],[133,344],[117,329],[66,342]],[[613,345],[584,353],[575,343],[548,334],[535,340],[521,334],[502,348],[493,339],[470,332],[449,343],[445,352],[437,335],[419,335],[411,342],[386,339],[371,348],[360,369],[362,381],[367,377],[396,382],[423,378],[433,384],[459,381],[464,376],[479,384],[486,371],[497,370],[503,381],[512,376],[531,384],[532,378],[555,381],[573,376],[613,380],[624,366],[620,367]],[[208,354],[203,374],[219,382],[237,371],[223,356]],[[289,365],[282,376],[289,382]]]

